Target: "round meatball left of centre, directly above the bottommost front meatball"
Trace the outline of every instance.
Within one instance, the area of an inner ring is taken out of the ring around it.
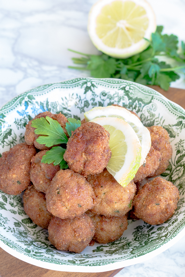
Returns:
[[[74,218],[96,204],[96,197],[86,179],[72,170],[60,170],[46,192],[47,210],[53,215]]]

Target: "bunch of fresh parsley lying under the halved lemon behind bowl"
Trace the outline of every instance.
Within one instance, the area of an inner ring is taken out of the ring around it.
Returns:
[[[162,34],[162,30],[163,26],[158,26],[155,33],[152,33],[150,46],[140,54],[127,59],[112,58],[103,53],[83,54],[68,49],[84,56],[72,58],[75,64],[83,67],[69,68],[90,70],[91,76],[95,78],[120,78],[142,85],[157,85],[168,90],[170,83],[180,78],[175,71],[185,68],[185,43],[181,43],[182,52],[178,53],[177,36]],[[178,62],[178,66],[171,67],[166,62],[160,62],[157,56],[172,58]]]

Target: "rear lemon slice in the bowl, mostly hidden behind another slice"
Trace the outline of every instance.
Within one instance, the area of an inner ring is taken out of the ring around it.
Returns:
[[[142,151],[140,166],[145,162],[146,156],[150,151],[151,137],[149,130],[142,124],[139,118],[132,114],[129,110],[118,106],[95,107],[84,113],[86,121],[90,121],[98,117],[117,117],[122,118],[133,128],[140,140]]]

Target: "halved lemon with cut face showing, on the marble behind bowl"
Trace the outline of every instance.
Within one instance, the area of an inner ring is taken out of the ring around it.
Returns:
[[[156,30],[155,14],[145,0],[100,0],[88,17],[88,33],[98,50],[128,58],[149,46]],[[146,38],[146,39],[145,39]]]

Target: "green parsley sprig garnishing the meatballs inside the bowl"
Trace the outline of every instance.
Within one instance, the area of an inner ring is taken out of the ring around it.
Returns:
[[[31,126],[36,128],[35,134],[41,134],[36,141],[40,144],[45,144],[47,147],[51,147],[56,144],[66,144],[68,138],[64,133],[64,130],[60,126],[57,120],[50,118],[49,116],[40,117],[32,120]],[[80,120],[75,118],[68,118],[66,123],[66,130],[71,137],[72,131],[81,126]],[[52,147],[49,151],[43,155],[41,163],[54,163],[54,165],[60,165],[60,169],[67,169],[68,164],[64,161],[64,153],[66,149],[61,146]]]

